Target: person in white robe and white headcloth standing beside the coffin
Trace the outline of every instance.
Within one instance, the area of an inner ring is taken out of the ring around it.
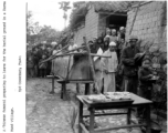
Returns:
[[[112,55],[112,58],[102,58],[104,71],[104,92],[116,91],[115,72],[117,71],[118,59],[115,49],[116,43],[112,41],[108,50],[103,53],[104,55]]]

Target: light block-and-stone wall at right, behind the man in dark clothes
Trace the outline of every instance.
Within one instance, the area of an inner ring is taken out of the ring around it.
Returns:
[[[137,7],[127,12],[126,38],[133,24]],[[159,66],[167,60],[167,7],[165,1],[145,2],[140,6],[132,34],[137,35],[141,52],[149,53],[153,65]]]

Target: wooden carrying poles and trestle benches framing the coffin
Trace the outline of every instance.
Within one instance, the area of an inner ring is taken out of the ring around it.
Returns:
[[[62,48],[62,50],[64,50],[65,48],[67,48],[67,45],[65,45],[64,48]],[[83,53],[88,55],[88,62],[90,62],[90,65],[91,65],[91,71],[92,71],[92,74],[93,74],[93,80],[71,80],[71,79],[69,79],[71,57],[73,54],[81,54],[81,53],[76,53],[76,52],[73,52],[73,51],[80,50],[80,49],[84,49],[84,48],[86,49],[86,51],[83,52]],[[60,50],[59,52],[61,52],[62,50]],[[65,55],[70,57],[69,58],[67,75],[66,75],[66,78],[65,79],[61,79],[61,80],[56,80],[59,83],[61,83],[61,99],[63,99],[63,100],[67,99],[67,96],[66,96],[66,84],[67,83],[75,83],[77,91],[78,91],[78,85],[77,84],[80,84],[80,83],[81,84],[85,84],[85,94],[90,94],[90,84],[95,82],[95,70],[94,70],[94,63],[93,63],[92,57],[111,58],[108,55],[98,55],[98,54],[91,53],[90,45],[87,43],[84,47],[78,47],[78,48],[73,49],[71,51],[67,51],[64,54],[59,54],[57,55],[59,52],[56,52],[56,54],[50,57],[49,59],[46,59],[45,61],[43,61],[41,63],[44,63],[44,62],[50,61],[50,60],[53,60],[53,59],[55,59],[57,57],[65,57]],[[54,80],[55,80],[55,76],[53,75],[53,76],[51,76],[51,79],[52,79],[52,91],[50,93],[53,94],[54,93]],[[99,93],[98,89],[96,91],[97,91],[97,93]]]

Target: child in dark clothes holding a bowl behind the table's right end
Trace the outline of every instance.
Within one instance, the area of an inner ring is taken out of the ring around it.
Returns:
[[[148,100],[150,100],[150,93],[153,88],[151,78],[154,76],[149,68],[150,68],[150,59],[144,58],[141,68],[139,68],[138,71],[138,80],[139,80],[138,94],[139,96]],[[144,114],[145,114],[144,108],[137,109],[137,115],[139,117],[141,116],[144,117]]]

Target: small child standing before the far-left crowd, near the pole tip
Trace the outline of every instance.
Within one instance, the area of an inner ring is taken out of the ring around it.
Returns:
[[[46,55],[43,54],[43,55],[42,55],[42,59],[40,60],[40,62],[41,62],[41,61],[44,61],[45,59],[46,59]],[[41,63],[41,64],[39,65],[39,69],[40,69],[40,76],[41,76],[41,78],[45,78],[45,76],[46,76],[48,62]]]

